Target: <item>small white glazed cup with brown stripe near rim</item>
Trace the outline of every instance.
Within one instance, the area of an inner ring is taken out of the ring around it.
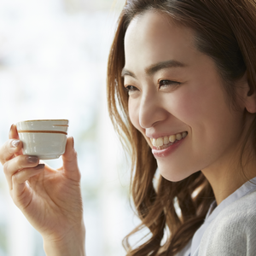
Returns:
[[[67,119],[21,121],[17,124],[23,154],[37,155],[40,160],[57,159],[67,143]]]

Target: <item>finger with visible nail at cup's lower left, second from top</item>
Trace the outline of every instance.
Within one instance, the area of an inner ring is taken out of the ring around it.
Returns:
[[[11,160],[16,154],[19,154],[22,148],[22,142],[17,139],[10,139],[0,148],[0,161],[4,164]]]

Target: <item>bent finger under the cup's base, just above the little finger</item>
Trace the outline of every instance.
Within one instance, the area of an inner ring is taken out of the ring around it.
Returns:
[[[14,159],[5,162],[5,164],[3,165],[3,172],[7,179],[9,189],[10,190],[13,189],[13,176],[15,174],[17,174],[17,177],[19,177],[19,183],[20,183],[21,174],[18,172],[24,172],[25,170],[23,170],[23,169],[27,170],[29,168],[36,167],[36,166],[38,166],[38,163],[39,163],[39,160],[38,160],[37,156],[28,156],[28,155],[19,155],[19,156],[15,157]],[[27,173],[27,172],[25,172],[25,173]],[[28,175],[28,178],[29,177],[30,176]]]

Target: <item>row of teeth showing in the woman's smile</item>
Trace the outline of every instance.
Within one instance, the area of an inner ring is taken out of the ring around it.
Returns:
[[[171,136],[159,137],[159,138],[150,138],[152,145],[157,150],[168,148],[170,145],[177,143],[182,138],[188,135],[188,131],[183,131],[182,133],[177,133]]]

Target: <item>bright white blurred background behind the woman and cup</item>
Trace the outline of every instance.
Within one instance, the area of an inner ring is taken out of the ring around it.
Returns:
[[[137,224],[129,158],[108,119],[108,51],[125,0],[0,1],[0,143],[24,119],[69,119],[82,172],[86,251],[125,255]],[[61,159],[46,161],[60,167]],[[0,167],[0,256],[44,256]]]

